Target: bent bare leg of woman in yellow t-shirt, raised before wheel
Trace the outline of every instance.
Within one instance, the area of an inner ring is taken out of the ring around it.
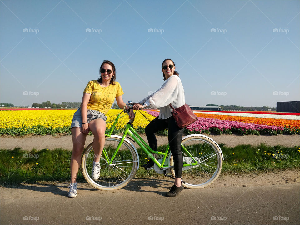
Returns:
[[[89,124],[90,131],[94,135],[93,149],[95,153],[94,161],[98,163],[105,144],[106,122],[103,119],[94,119]]]

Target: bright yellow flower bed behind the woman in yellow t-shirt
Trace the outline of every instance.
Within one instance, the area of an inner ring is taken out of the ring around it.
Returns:
[[[112,109],[106,114],[107,130],[109,130],[121,109]],[[0,134],[25,135],[25,134],[71,134],[71,122],[74,109],[70,110],[22,110],[0,111]],[[123,114],[125,115],[125,114]],[[155,117],[145,112],[137,111],[133,128],[144,133],[145,127]],[[123,132],[129,116],[121,117],[116,124],[114,133]]]

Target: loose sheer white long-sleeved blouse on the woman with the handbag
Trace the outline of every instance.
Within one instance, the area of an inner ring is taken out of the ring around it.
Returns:
[[[159,119],[167,119],[172,116],[172,108],[178,108],[185,104],[184,90],[180,78],[177,75],[169,77],[163,86],[152,95],[139,102],[151,108],[159,108]]]

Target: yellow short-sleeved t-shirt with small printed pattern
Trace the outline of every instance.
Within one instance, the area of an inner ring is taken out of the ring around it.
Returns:
[[[113,105],[115,98],[124,94],[119,82],[115,81],[115,85],[110,84],[103,88],[97,80],[90,81],[83,93],[91,94],[88,109],[98,110],[104,115]]]

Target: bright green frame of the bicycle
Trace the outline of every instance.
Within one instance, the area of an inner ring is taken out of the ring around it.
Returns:
[[[121,113],[123,113],[124,111],[122,111]],[[108,131],[108,133],[105,133],[106,136],[111,137],[111,134],[113,133],[113,129],[115,128],[118,119],[120,118],[121,113],[119,113],[117,115],[117,118],[115,119],[113,126],[110,128],[110,130]],[[124,115],[125,116],[125,115]],[[123,116],[122,116],[123,117]],[[148,154],[148,157],[150,159],[152,159],[154,161],[154,163],[159,167],[159,168],[170,168],[170,165],[164,165],[167,156],[169,155],[169,145],[167,146],[167,149],[165,152],[159,152],[159,151],[154,151],[153,149],[150,148],[150,146],[143,140],[143,138],[141,138],[138,133],[132,128],[131,124],[133,123],[133,120],[129,120],[129,122],[126,125],[126,129],[124,131],[124,134],[122,136],[122,140],[120,141],[120,143],[118,144],[118,147],[116,148],[113,156],[111,159],[108,158],[108,154],[105,150],[105,148],[103,149],[103,155],[105,157],[105,159],[107,160],[108,164],[112,164],[113,163],[113,159],[115,158],[115,156],[117,155],[123,141],[125,140],[126,136],[129,135],[131,138],[133,138],[133,140],[143,149],[143,151],[145,153]],[[199,162],[197,162],[197,160],[187,151],[186,148],[184,148],[183,145],[181,145],[182,149],[184,150],[184,152],[191,157],[194,162],[196,163],[189,163],[189,164],[183,164],[183,167],[187,167],[187,166],[195,166],[197,165]],[[158,162],[158,160],[151,154],[151,153],[155,153],[158,155],[163,155],[163,160],[160,162]],[[165,169],[164,169],[165,170]]]

